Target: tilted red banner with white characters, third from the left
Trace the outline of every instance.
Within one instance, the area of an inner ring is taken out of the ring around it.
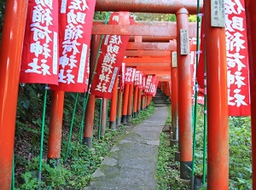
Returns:
[[[119,24],[119,13],[111,14],[109,24]],[[111,99],[113,83],[119,73],[128,41],[129,36],[106,35],[104,37],[102,54],[98,59],[96,74],[91,84],[91,94]]]

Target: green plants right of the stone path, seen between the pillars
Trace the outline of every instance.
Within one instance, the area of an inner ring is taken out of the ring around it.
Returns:
[[[171,124],[171,108],[166,124]],[[251,120],[249,117],[230,117],[230,189],[253,189],[251,158]],[[195,175],[202,175],[203,167],[203,107],[197,110]],[[177,147],[170,147],[170,135],[162,132],[158,159],[158,190],[188,189],[175,180],[179,176],[179,164],[174,161]]]

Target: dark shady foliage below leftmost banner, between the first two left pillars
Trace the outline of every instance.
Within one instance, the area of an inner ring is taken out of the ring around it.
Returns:
[[[34,154],[38,153],[39,139],[40,139],[40,127],[42,124],[42,112],[43,112],[43,101],[44,101],[44,89],[43,84],[20,84],[19,85],[19,96],[17,102],[17,113],[16,113],[16,127],[15,136],[16,143],[26,141],[29,137],[32,146],[27,148],[27,151]],[[48,95],[49,99],[49,95]],[[48,101],[48,111],[49,111]],[[47,118],[49,116],[46,116]],[[46,119],[46,126],[49,125],[49,119]],[[48,129],[45,131],[48,134]],[[16,147],[20,149],[21,147]],[[35,152],[36,150],[36,152]],[[24,150],[26,152],[26,150]]]

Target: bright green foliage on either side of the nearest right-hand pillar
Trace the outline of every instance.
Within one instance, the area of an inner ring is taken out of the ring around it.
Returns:
[[[230,189],[252,189],[251,130],[249,117],[230,117]],[[198,105],[195,175],[203,168],[203,107]],[[241,156],[242,155],[242,156]]]

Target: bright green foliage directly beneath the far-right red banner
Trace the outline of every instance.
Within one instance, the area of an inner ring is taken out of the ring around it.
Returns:
[[[253,189],[251,118],[230,117],[230,189]]]

